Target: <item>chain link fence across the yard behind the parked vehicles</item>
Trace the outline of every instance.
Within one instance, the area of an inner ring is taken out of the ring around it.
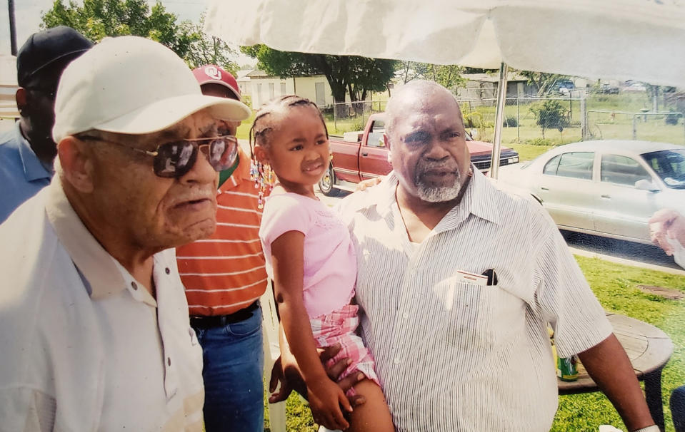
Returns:
[[[586,97],[583,97],[586,96]],[[464,125],[476,140],[494,138],[495,98],[461,96]],[[364,130],[369,115],[385,110],[387,101],[336,103],[334,130]],[[559,145],[590,139],[651,140],[685,144],[685,123],[676,106],[654,112],[646,95],[603,95],[580,91],[568,96],[507,98],[502,143]]]

